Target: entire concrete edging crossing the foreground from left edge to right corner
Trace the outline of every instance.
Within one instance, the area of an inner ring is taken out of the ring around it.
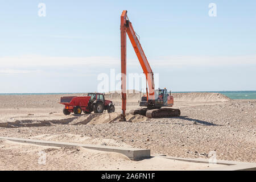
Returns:
[[[38,144],[41,146],[52,146],[52,147],[84,147],[92,150],[100,150],[106,152],[118,152],[123,155],[126,155],[128,158],[132,160],[142,160],[146,158],[152,158],[155,156],[172,159],[172,160],[180,160],[188,163],[209,163],[208,159],[197,158],[197,159],[189,159],[189,158],[174,158],[171,156],[164,155],[151,155],[150,150],[141,149],[141,148],[127,148],[127,147],[113,147],[113,146],[100,146],[100,145],[92,145],[92,144],[81,144],[81,143],[70,143],[70,142],[55,142],[48,140],[36,140],[36,139],[26,139],[26,138],[13,138],[13,137],[0,137],[0,139],[11,140],[13,142],[20,143],[30,143],[30,144]],[[204,169],[204,170],[217,170],[217,171],[238,171],[238,170],[253,170],[256,171],[256,163],[247,163],[247,162],[237,162],[230,160],[217,160],[216,164],[221,164],[221,167],[216,167],[212,169]]]

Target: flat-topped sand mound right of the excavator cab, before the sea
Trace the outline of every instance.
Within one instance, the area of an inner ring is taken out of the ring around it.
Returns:
[[[221,93],[209,92],[172,93],[172,96],[174,96],[175,102],[225,102],[231,100]]]

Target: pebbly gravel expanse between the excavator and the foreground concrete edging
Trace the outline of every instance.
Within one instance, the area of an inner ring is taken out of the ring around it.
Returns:
[[[108,138],[151,154],[256,162],[256,101],[233,100],[216,105],[181,107],[181,116],[143,122],[0,128],[5,137],[30,138],[40,134],[76,134]]]

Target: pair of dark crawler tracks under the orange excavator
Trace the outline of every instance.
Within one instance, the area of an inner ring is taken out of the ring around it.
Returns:
[[[147,118],[177,117],[180,115],[179,109],[162,108],[162,109],[136,109],[131,114],[144,115]]]

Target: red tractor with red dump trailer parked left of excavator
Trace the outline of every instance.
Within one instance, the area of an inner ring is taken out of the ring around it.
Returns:
[[[87,96],[82,97],[61,97],[59,103],[65,105],[63,109],[65,115],[81,114],[82,111],[85,114],[92,113],[92,111],[94,113],[103,113],[104,110],[108,110],[108,113],[115,111],[113,102],[105,100],[103,93],[88,93]]]

